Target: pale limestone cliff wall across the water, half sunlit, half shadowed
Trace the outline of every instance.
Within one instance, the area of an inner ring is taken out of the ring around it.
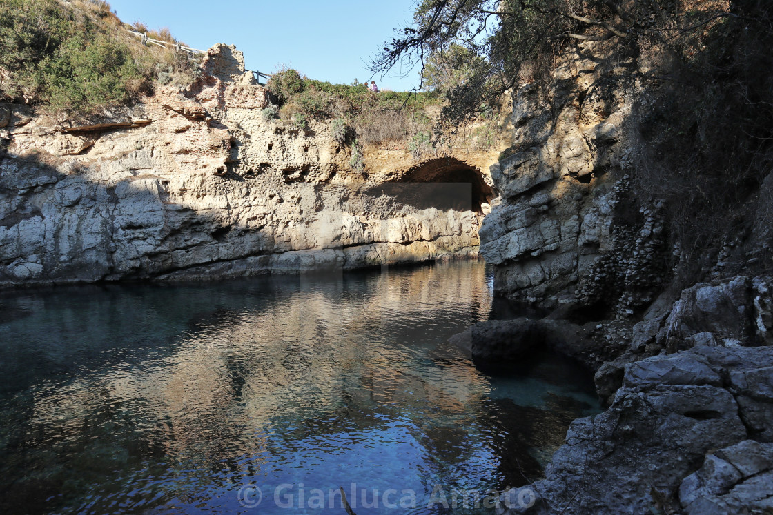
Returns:
[[[495,151],[455,149],[422,162],[407,150],[366,148],[358,172],[329,123],[299,129],[264,117],[267,104],[241,53],[217,45],[188,90],[162,87],[100,117],[57,123],[0,106],[8,152],[0,158],[0,286],[477,254],[482,208],[471,191],[490,196],[479,170]],[[430,168],[434,183],[418,182]],[[443,184],[461,169],[466,185]],[[458,202],[437,204],[438,188]]]

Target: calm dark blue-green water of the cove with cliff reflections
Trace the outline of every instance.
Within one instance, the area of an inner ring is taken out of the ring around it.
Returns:
[[[493,513],[599,407],[448,344],[492,304],[479,262],[4,292],[0,510]]]

